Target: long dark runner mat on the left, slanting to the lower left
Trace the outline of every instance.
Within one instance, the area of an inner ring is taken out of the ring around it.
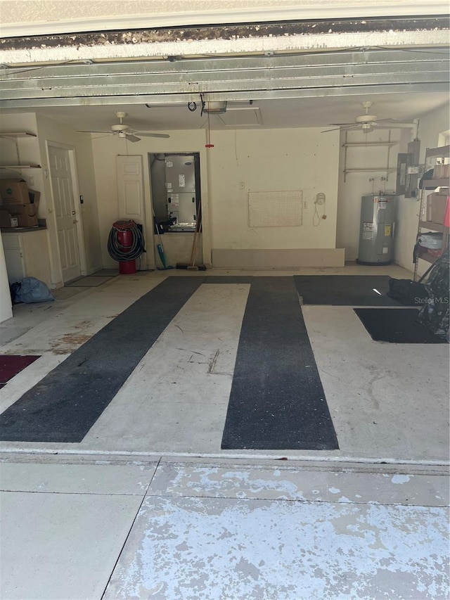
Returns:
[[[0,440],[81,442],[201,277],[169,277],[0,415]]]

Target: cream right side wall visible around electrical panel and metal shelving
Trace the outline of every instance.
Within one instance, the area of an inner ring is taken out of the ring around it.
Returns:
[[[426,148],[439,146],[439,134],[450,129],[450,107],[447,104],[420,118],[420,164],[425,160]],[[397,232],[394,261],[401,267],[413,271],[413,248],[416,243],[419,220],[419,200],[401,196],[397,203]],[[419,261],[418,273],[422,274],[430,266]]]

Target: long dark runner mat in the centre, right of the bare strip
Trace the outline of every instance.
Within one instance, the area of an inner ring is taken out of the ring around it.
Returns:
[[[254,277],[223,449],[338,449],[292,277]]]

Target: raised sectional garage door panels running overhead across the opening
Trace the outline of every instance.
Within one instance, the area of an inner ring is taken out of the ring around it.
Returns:
[[[0,72],[0,107],[170,103],[445,91],[444,49],[43,66]]]

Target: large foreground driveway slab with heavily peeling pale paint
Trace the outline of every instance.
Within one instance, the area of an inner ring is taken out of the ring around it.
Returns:
[[[444,599],[446,529],[441,508],[147,497],[103,599]]]

